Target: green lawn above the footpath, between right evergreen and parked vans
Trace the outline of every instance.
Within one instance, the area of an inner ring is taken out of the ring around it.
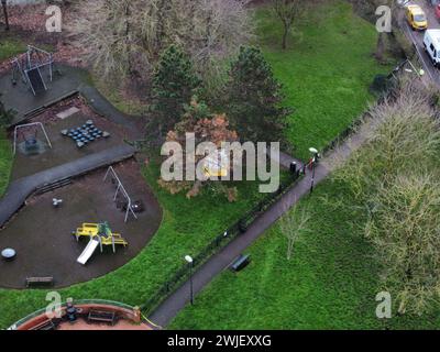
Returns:
[[[257,44],[284,84],[286,103],[295,109],[286,131],[296,156],[322,148],[361,114],[373,97],[369,87],[388,73],[372,56],[377,32],[346,1],[327,1],[307,13],[280,48],[282,24],[268,8],[256,10]]]

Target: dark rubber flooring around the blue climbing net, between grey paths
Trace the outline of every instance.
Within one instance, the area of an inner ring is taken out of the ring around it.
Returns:
[[[61,131],[78,128],[86,123],[87,120],[92,120],[97,128],[108,131],[111,135],[108,139],[100,139],[82,148],[78,148],[74,141],[69,138],[63,136]],[[12,167],[12,179],[34,175],[54,166],[59,166],[84,156],[108,150],[112,146],[124,144],[123,140],[127,138],[124,129],[120,125],[96,114],[85,116],[82,112],[78,112],[64,120],[41,121],[38,118],[35,118],[32,122],[43,122],[48,139],[51,140],[52,148],[47,146],[43,131],[41,129],[36,130],[37,140],[46,146],[45,152],[37,155],[24,155],[18,148]],[[19,142],[23,142],[25,138],[29,139],[35,133],[34,130],[19,131],[22,131],[19,132]]]

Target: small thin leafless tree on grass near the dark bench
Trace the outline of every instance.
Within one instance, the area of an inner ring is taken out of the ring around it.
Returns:
[[[307,208],[304,208],[300,213],[298,213],[298,207],[288,211],[287,204],[284,204],[284,216],[279,219],[279,230],[287,239],[287,260],[289,261],[299,235],[307,231],[311,215]]]

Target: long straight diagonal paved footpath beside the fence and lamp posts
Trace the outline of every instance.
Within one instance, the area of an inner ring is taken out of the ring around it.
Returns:
[[[365,123],[361,130],[348,139],[342,145],[331,152],[316,167],[315,183],[322,182],[333,169],[346,161],[353,151],[359,148],[367,139],[369,131],[376,125],[376,122]],[[289,165],[292,157],[280,156],[280,163]],[[229,265],[243,253],[252,243],[261,237],[265,230],[274,224],[285,212],[290,209],[298,200],[310,195],[311,173],[308,170],[294,188],[282,197],[272,208],[255,220],[248,231],[238,237],[223,248],[218,254],[213,255],[206,264],[197,270],[193,276],[194,293],[197,295],[208,285],[218,274],[229,267]],[[189,302],[190,286],[189,280],[183,284],[174,294],[172,294],[155,311],[148,317],[151,321],[161,327],[166,327],[173,318]],[[197,300],[196,300],[197,305]]]

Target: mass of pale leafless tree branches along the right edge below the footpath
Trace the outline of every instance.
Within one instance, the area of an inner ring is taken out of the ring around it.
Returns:
[[[380,123],[334,178],[352,191],[338,207],[366,213],[353,226],[364,226],[398,311],[421,314],[440,298],[440,124],[432,91],[418,79],[400,85],[371,109]]]

